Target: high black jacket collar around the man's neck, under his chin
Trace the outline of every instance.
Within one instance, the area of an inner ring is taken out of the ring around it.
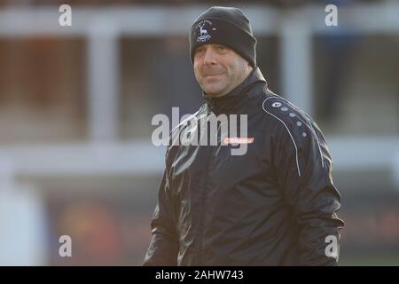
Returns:
[[[264,84],[267,88],[267,83],[261,70],[259,67],[254,67],[242,83],[224,96],[212,97],[205,91],[202,91],[202,97],[207,102],[210,110],[215,114],[231,113],[256,94],[253,90],[254,86],[258,83]]]

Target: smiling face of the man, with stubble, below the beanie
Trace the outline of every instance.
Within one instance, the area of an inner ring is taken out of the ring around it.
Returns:
[[[252,67],[239,54],[222,44],[204,44],[194,51],[194,73],[203,91],[221,97],[240,83]]]

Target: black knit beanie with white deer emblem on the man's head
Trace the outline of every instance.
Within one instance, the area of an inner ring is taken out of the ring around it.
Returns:
[[[230,47],[256,66],[256,39],[249,19],[234,7],[214,6],[200,14],[190,30],[190,57],[203,44],[219,43]]]

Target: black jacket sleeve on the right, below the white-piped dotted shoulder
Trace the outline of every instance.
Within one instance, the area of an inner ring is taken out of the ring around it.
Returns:
[[[336,265],[344,223],[336,215],[340,193],[332,183],[332,158],[309,115],[291,115],[278,123],[275,161],[278,185],[299,232],[299,265]]]

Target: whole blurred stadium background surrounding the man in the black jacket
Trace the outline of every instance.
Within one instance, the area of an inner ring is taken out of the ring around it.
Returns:
[[[188,30],[216,4],[246,12],[270,89],[325,133],[340,265],[399,265],[397,0],[0,0],[0,264],[142,264],[165,154],[151,121],[203,103]]]

